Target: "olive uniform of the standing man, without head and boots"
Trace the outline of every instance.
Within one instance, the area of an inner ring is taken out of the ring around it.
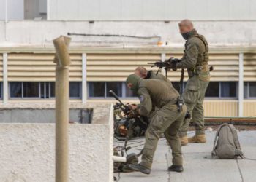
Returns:
[[[176,68],[187,68],[189,80],[183,93],[184,102],[195,124],[196,135],[204,134],[203,100],[210,81],[208,43],[195,29],[189,32],[184,56]],[[180,136],[187,135],[190,119],[184,119]]]

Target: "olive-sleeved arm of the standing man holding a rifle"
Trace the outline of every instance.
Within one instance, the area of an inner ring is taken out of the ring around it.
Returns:
[[[184,56],[180,62],[176,63],[176,68],[194,68],[197,63],[198,52],[195,41],[187,41]]]

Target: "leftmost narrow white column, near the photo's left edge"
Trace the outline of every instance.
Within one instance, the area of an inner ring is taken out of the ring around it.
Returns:
[[[3,103],[8,102],[7,53],[3,54]]]

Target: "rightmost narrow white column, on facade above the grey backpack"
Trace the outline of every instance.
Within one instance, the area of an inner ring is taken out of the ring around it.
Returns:
[[[244,54],[239,54],[238,116],[244,116]]]

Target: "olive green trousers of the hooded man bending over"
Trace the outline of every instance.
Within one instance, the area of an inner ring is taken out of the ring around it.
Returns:
[[[173,165],[182,165],[181,141],[178,137],[178,130],[181,127],[186,112],[186,106],[183,106],[183,111],[178,112],[177,105],[166,105],[149,116],[150,124],[145,134],[146,143],[143,148],[140,165],[151,169],[157,143],[160,135],[163,133],[172,149]]]

